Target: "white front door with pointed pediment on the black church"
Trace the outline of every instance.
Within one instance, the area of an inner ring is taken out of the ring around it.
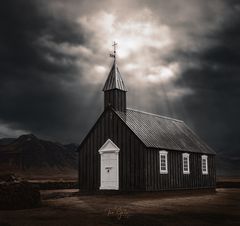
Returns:
[[[101,181],[100,189],[119,189],[118,153],[119,148],[108,139],[99,150],[101,155]]]

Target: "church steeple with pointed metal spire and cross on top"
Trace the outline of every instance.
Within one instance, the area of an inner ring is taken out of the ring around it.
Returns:
[[[111,106],[117,111],[125,111],[127,87],[123,82],[117,66],[116,45],[114,42],[114,54],[110,54],[110,56],[114,58],[113,65],[103,87],[104,107],[107,108]]]

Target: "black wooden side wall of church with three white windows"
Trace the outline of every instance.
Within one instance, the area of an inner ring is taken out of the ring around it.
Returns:
[[[190,153],[190,174],[183,174],[182,152],[168,151],[168,174],[160,174],[159,150],[146,149],[146,190],[214,188],[215,156],[208,155],[208,174],[202,174],[201,154]]]

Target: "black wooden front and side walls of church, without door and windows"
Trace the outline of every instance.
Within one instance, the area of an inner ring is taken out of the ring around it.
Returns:
[[[208,175],[203,175],[201,154],[190,153],[190,174],[183,174],[182,152],[168,151],[168,174],[160,174],[159,150],[145,148],[121,119],[112,110],[107,110],[79,150],[80,190],[99,190],[98,150],[107,139],[111,139],[120,148],[119,190],[121,191],[215,187],[215,156],[208,155]]]

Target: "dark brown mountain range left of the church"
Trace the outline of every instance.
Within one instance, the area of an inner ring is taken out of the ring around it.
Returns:
[[[33,134],[0,140],[0,168],[50,173],[77,169],[77,144],[62,145]],[[50,170],[50,171],[49,171]],[[2,170],[1,170],[2,171]]]

